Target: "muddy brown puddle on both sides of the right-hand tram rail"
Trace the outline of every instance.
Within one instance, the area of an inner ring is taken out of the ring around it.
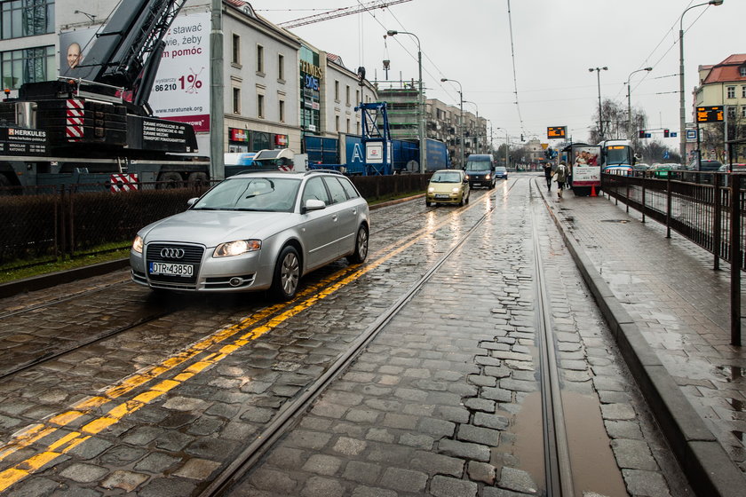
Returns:
[[[563,391],[562,404],[576,497],[582,497],[583,492],[627,497],[622,473],[616,466],[601,419],[598,399]],[[540,493],[544,494],[544,442],[539,392],[531,393],[523,400],[514,421],[512,449],[518,460],[518,469],[530,473],[541,489]]]

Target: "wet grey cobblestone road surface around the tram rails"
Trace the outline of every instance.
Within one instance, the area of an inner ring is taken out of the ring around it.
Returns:
[[[411,201],[372,211],[368,263],[314,272],[291,305],[160,299],[124,285],[87,305],[4,319],[5,343],[33,343],[172,310],[0,382],[0,483],[16,478],[3,494],[200,493],[484,215],[232,494],[543,494],[532,223],[567,430],[580,442],[576,489],[690,494],[529,178],[474,194],[464,209]]]

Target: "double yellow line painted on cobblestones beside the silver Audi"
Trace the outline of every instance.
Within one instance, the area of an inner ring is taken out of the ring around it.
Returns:
[[[485,195],[484,198],[488,198],[487,195]],[[472,206],[475,204],[472,204]],[[472,209],[472,207],[468,208]],[[316,293],[315,295],[310,296],[307,298],[304,302],[295,305],[294,307],[290,308],[289,310],[280,313],[279,315],[275,316],[272,319],[269,319],[266,325],[255,327],[251,329],[248,333],[245,335],[239,336],[234,343],[226,344],[222,349],[221,353],[211,353],[202,360],[195,362],[194,364],[187,367],[186,373],[182,373],[178,376],[176,376],[176,380],[164,380],[161,383],[156,384],[151,388],[151,390],[147,390],[143,393],[140,393],[137,397],[133,398],[130,401],[125,401],[117,406],[112,407],[107,414],[100,416],[97,419],[92,420],[91,422],[88,422],[83,428],[81,429],[82,432],[88,433],[91,435],[95,435],[99,433],[102,430],[106,430],[108,427],[112,426],[116,422],[121,421],[123,416],[127,414],[131,414],[139,408],[146,406],[148,403],[153,401],[155,398],[158,398],[162,396],[167,391],[175,388],[180,383],[183,383],[187,381],[189,378],[191,378],[194,374],[201,372],[207,367],[212,366],[213,364],[217,363],[218,361],[225,359],[228,357],[228,355],[234,351],[237,351],[242,348],[242,346],[250,343],[251,340],[254,340],[258,338],[261,335],[265,335],[267,332],[271,331],[275,327],[282,324],[285,320],[292,318],[293,316],[296,316],[298,313],[305,311],[309,307],[313,306],[313,304],[318,303],[322,299],[326,298],[327,296],[330,296],[334,294],[338,289],[345,287],[349,283],[353,282],[354,280],[358,280],[361,278],[362,275],[366,274],[367,272],[373,271],[376,269],[379,265],[384,264],[389,259],[391,259],[393,256],[396,256],[400,254],[402,251],[406,250],[407,248],[410,248],[414,244],[416,244],[418,241],[421,241],[423,238],[425,238],[425,235],[431,233],[434,229],[440,229],[443,225],[446,225],[449,221],[444,221],[440,223],[439,225],[433,226],[433,228],[430,229],[422,229],[420,230],[420,234],[410,239],[408,242],[401,245],[399,248],[395,248],[392,251],[390,251],[385,256],[382,256],[381,258],[377,259],[375,262],[371,262],[369,264],[365,264],[360,269],[350,272],[345,278],[342,278],[341,280],[337,280],[336,283],[333,283],[330,286],[323,285],[320,292]],[[344,273],[344,272],[343,272]],[[330,276],[327,279],[322,280],[323,282],[327,280],[335,280],[337,279],[338,272],[335,273],[335,275]],[[313,288],[321,287],[322,284],[314,285]],[[306,293],[306,292],[304,292]],[[310,293],[310,291],[308,292]],[[119,397],[123,395],[127,390],[125,390],[126,387],[130,387],[130,390],[135,388],[136,386],[139,386],[142,383],[145,383],[145,378],[153,379],[155,376],[151,375],[154,371],[159,371],[159,374],[163,374],[163,372],[168,371],[172,369],[173,367],[179,366],[182,364],[185,360],[188,359],[187,356],[191,354],[192,351],[204,351],[209,345],[216,343],[215,338],[220,336],[222,337],[222,341],[231,335],[235,335],[238,332],[246,329],[247,327],[250,327],[251,324],[258,322],[261,319],[265,319],[268,314],[271,314],[277,308],[279,307],[282,309],[282,306],[285,304],[275,304],[273,306],[270,306],[269,308],[266,308],[265,310],[258,312],[257,316],[254,316],[251,319],[244,319],[241,323],[238,325],[234,325],[233,327],[228,327],[224,330],[218,331],[216,334],[210,335],[208,338],[202,340],[201,342],[193,345],[190,347],[187,351],[179,353],[178,356],[171,357],[169,359],[164,359],[161,362],[161,365],[156,367],[150,367],[147,368],[147,371],[144,373],[132,375],[128,378],[125,378],[122,383],[115,385],[114,387],[110,388],[109,390],[106,390],[106,397],[93,397],[93,398],[87,398],[83,400],[82,402],[76,404],[74,408],[78,408],[79,406],[83,405],[86,406],[86,410],[90,411],[94,408],[97,408],[99,406],[102,406],[104,403],[108,402],[109,400]],[[261,318],[258,318],[258,316],[261,315]],[[228,333],[228,331],[230,333]],[[219,342],[218,341],[218,342]],[[224,351],[224,349],[228,348],[229,352]],[[194,354],[196,355],[196,354]],[[194,356],[192,356],[194,357]],[[163,367],[163,365],[168,362],[170,367]],[[70,421],[76,419],[83,413],[79,413],[77,411],[68,411],[65,414],[60,414],[58,416],[54,416],[51,419],[55,419],[57,422],[65,422],[65,420],[69,419]],[[58,424],[58,427],[61,427],[61,424]],[[15,440],[15,444],[13,446],[9,446],[8,449],[14,449],[12,452],[15,452],[16,450],[20,449],[22,446],[28,446],[33,441],[36,441],[40,438],[45,437],[46,435],[49,435],[53,431],[57,430],[57,427],[51,427],[47,428],[46,430],[43,430],[44,427],[43,424],[37,424],[28,430],[24,430],[23,433],[25,434],[33,434],[32,438],[26,438],[24,440]],[[81,444],[85,439],[89,438],[90,435],[81,436],[81,433],[74,432],[71,434],[68,434],[65,438],[62,438],[60,440],[65,440],[65,442],[70,441],[70,444],[67,446],[66,449],[60,451],[60,452],[54,452],[53,449],[56,447],[59,447],[60,441],[55,442],[55,444],[52,444],[52,446],[49,446],[50,451],[44,451],[43,453],[36,454],[30,458],[28,458],[25,461],[21,461],[12,468],[5,469],[4,471],[0,472],[0,492],[4,491],[6,488],[8,488],[10,485],[13,485],[20,481],[21,479],[27,477],[30,473],[34,472],[35,470],[41,468],[49,461],[53,461],[57,457],[59,457],[61,454],[66,453],[68,450],[73,448],[74,446],[77,446]],[[5,450],[8,450],[5,449]],[[9,454],[12,454],[12,452],[9,452],[8,454],[3,454],[3,457],[6,457]],[[0,459],[2,460],[2,459]],[[29,468],[29,469],[26,469]]]

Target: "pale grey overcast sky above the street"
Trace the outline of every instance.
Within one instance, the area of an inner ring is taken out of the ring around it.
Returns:
[[[388,0],[391,3],[392,0]],[[458,105],[475,102],[495,128],[496,144],[520,134],[546,142],[547,126],[567,126],[576,140],[588,138],[598,108],[596,72],[603,99],[647,113],[649,128],[679,130],[679,18],[705,0],[409,0],[337,19],[292,28],[321,50],[340,55],[345,66],[366,67],[370,80],[385,79],[383,59],[391,60],[389,79],[417,80],[417,42],[387,29],[409,31],[420,40],[428,98]],[[280,23],[371,0],[252,0],[268,20]],[[378,0],[377,4],[382,1]],[[509,22],[510,19],[510,22]],[[687,121],[697,67],[746,53],[746,0],[695,7],[684,16]],[[512,43],[511,29],[512,23]],[[515,54],[515,84],[513,59]],[[515,86],[518,103],[515,104]],[[474,112],[472,104],[464,110]],[[497,130],[496,128],[500,128]],[[678,138],[659,141],[676,149]]]

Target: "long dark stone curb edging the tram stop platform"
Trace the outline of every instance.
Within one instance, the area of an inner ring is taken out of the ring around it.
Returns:
[[[567,233],[541,187],[538,190],[694,493],[702,497],[742,496],[744,478],[741,469],[726,454],[655,351],[650,349],[645,336],[583,248]]]

